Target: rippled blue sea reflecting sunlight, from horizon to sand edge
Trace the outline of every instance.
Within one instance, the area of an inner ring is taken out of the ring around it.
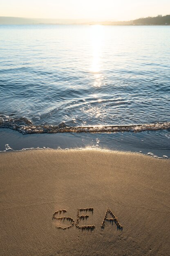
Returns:
[[[0,151],[170,157],[170,26],[0,25]]]

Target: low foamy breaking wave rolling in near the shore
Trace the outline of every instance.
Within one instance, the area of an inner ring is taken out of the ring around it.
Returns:
[[[0,128],[9,128],[22,134],[32,133],[58,133],[58,132],[89,132],[89,133],[110,133],[110,132],[142,132],[147,130],[168,130],[170,122],[159,122],[155,124],[137,125],[108,125],[108,126],[67,126],[62,123],[54,125],[34,125],[27,118],[0,117]]]

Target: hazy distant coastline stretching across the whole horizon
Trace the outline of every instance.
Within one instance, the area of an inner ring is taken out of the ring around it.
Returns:
[[[170,15],[139,18],[128,21],[91,21],[68,19],[38,19],[0,17],[0,25],[170,25]]]

